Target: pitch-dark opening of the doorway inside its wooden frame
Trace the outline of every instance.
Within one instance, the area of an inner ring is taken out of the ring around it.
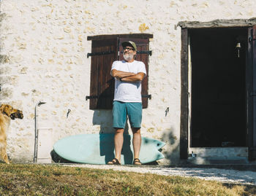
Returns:
[[[246,146],[247,29],[189,29],[191,147]]]

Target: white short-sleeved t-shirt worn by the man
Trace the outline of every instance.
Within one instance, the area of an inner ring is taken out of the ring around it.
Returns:
[[[146,74],[146,67],[142,61],[134,60],[128,63],[125,60],[114,61],[111,71],[126,71],[134,74],[142,72]],[[138,82],[121,82],[115,78],[115,95],[114,101],[122,102],[141,102],[141,81]]]

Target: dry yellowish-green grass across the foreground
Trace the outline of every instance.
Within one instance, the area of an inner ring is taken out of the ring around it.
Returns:
[[[0,163],[0,195],[254,195],[256,187],[61,165]]]

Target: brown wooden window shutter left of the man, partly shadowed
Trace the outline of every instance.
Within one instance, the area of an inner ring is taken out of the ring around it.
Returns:
[[[115,81],[110,70],[116,48],[117,39],[92,40],[90,109],[112,109]]]

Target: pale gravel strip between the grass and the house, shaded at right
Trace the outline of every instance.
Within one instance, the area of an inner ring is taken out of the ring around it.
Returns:
[[[208,181],[220,181],[222,183],[256,185],[256,172],[248,170],[227,170],[217,168],[168,168],[134,165],[87,165],[87,164],[63,164],[69,167],[95,168],[107,170],[123,170],[137,173],[154,173],[165,176],[195,177]]]

